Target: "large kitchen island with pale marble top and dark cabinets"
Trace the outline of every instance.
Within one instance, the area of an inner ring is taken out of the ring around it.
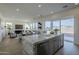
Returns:
[[[22,39],[23,52],[28,55],[52,55],[64,46],[64,34],[36,34]]]

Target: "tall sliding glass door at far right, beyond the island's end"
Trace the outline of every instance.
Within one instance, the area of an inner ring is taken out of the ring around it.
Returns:
[[[61,33],[64,33],[66,41],[74,40],[74,18],[61,19]]]

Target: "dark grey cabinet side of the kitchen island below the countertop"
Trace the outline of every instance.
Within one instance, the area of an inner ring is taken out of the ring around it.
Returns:
[[[48,41],[37,44],[36,45],[37,55],[55,54],[55,52],[58,51],[64,45],[64,38],[63,39],[62,38],[61,36],[56,36]]]

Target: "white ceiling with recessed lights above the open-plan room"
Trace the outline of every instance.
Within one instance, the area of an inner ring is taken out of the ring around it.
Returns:
[[[38,5],[42,5],[41,8]],[[62,8],[68,5],[67,8]],[[51,11],[60,12],[74,7],[75,4],[69,3],[9,3],[0,4],[0,13],[3,17],[27,19],[38,17],[39,15],[49,15]],[[19,8],[17,12],[16,9]]]

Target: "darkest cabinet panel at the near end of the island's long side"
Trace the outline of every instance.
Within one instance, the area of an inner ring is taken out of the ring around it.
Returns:
[[[48,41],[37,44],[37,54],[38,55],[47,55],[49,54]]]

